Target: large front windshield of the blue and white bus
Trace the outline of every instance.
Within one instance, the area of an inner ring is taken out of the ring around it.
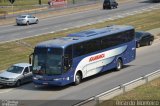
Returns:
[[[33,56],[33,73],[57,75],[62,73],[61,48],[36,48]]]

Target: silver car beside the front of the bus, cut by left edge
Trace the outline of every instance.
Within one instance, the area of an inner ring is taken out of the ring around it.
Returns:
[[[29,63],[17,63],[11,65],[6,71],[0,73],[0,85],[20,86],[32,81],[32,65]]]

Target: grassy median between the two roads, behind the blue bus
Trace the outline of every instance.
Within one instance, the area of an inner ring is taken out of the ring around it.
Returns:
[[[128,24],[135,26],[136,30],[149,30],[160,27],[160,9],[153,10],[151,12],[145,12],[134,16],[128,16],[123,19],[117,19],[114,21],[106,21],[94,25],[88,25],[81,28],[74,28],[66,31],[60,31],[54,34],[47,34],[38,37],[32,37],[22,40],[31,44],[33,47],[42,41],[49,40],[55,37],[66,36],[67,34],[79,32],[82,30],[101,28],[112,24]],[[0,44],[0,70],[6,69],[9,65],[18,62],[28,62],[28,56],[33,52],[32,48],[29,48],[23,44],[14,42]]]

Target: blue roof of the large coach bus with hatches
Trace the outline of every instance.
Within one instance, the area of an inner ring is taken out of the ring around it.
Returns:
[[[86,30],[78,33],[69,34],[66,37],[60,37],[60,38],[44,41],[37,44],[36,47],[64,48],[68,45],[76,44],[79,42],[87,41],[87,40],[98,38],[98,37],[103,37],[110,34],[115,34],[118,32],[123,32],[126,30],[131,30],[131,29],[134,29],[134,27],[127,26],[127,25],[112,25],[112,26],[107,26],[100,29]]]

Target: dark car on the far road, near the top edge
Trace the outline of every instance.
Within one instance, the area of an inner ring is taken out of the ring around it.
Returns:
[[[115,0],[104,0],[103,9],[117,8],[118,3]]]

